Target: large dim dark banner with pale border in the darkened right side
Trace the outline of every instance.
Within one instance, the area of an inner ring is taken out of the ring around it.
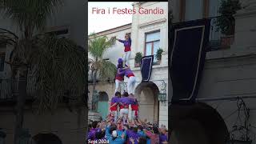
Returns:
[[[209,19],[181,22],[172,27],[169,35],[169,68],[173,86],[171,103],[195,101],[209,33]]]

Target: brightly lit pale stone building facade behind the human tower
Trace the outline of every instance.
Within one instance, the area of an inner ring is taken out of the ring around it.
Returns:
[[[134,2],[134,9],[138,11],[139,7],[146,9],[162,8],[164,14],[133,14],[132,23],[125,26],[119,26],[111,30],[105,30],[97,33],[97,36],[106,36],[108,38],[124,39],[126,33],[131,34],[132,46],[130,67],[134,71],[136,77],[135,96],[139,102],[139,116],[146,118],[149,122],[159,122],[168,126],[168,98],[165,102],[158,101],[158,94],[162,90],[168,95],[168,3],[167,2]],[[162,49],[162,60],[158,62],[154,59],[154,66],[150,77],[150,82],[142,83],[140,67],[136,66],[134,58],[138,52],[142,56],[155,55],[158,49]],[[118,58],[122,58],[123,45],[116,41],[109,50],[106,51],[104,58],[108,58],[115,65]],[[125,83],[127,79],[125,78]],[[113,82],[98,83],[96,90],[108,96],[107,101],[114,96],[115,84]],[[92,90],[92,85],[89,85],[89,90]],[[101,95],[100,95],[101,97]],[[91,107],[92,96],[89,97],[89,107]],[[101,108],[102,109],[102,108]],[[105,107],[108,109],[108,106]],[[106,115],[107,111],[98,110],[102,115]]]

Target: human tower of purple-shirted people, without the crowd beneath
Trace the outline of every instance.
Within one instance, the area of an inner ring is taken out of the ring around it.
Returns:
[[[124,49],[123,58],[118,59],[117,74],[115,77],[115,94],[111,99],[110,115],[114,117],[114,122],[117,122],[118,118],[122,118],[126,123],[128,120],[138,118],[138,101],[134,97],[134,86],[136,78],[134,72],[130,70],[130,53],[131,53],[131,39],[130,35],[126,34],[125,40],[118,39],[118,42],[122,42]],[[123,86],[124,77],[128,78],[127,87],[123,94],[121,94],[121,85]],[[120,89],[120,91],[118,91]]]

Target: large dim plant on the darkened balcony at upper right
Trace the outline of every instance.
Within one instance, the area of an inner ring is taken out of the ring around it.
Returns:
[[[218,10],[221,17],[218,17],[216,22],[218,30],[221,30],[222,34],[234,34],[235,20],[233,15],[241,8],[239,0],[222,0]]]

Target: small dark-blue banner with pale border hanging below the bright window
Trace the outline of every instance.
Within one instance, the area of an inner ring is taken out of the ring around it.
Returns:
[[[141,61],[142,82],[149,82],[154,61],[154,55],[145,56]]]

